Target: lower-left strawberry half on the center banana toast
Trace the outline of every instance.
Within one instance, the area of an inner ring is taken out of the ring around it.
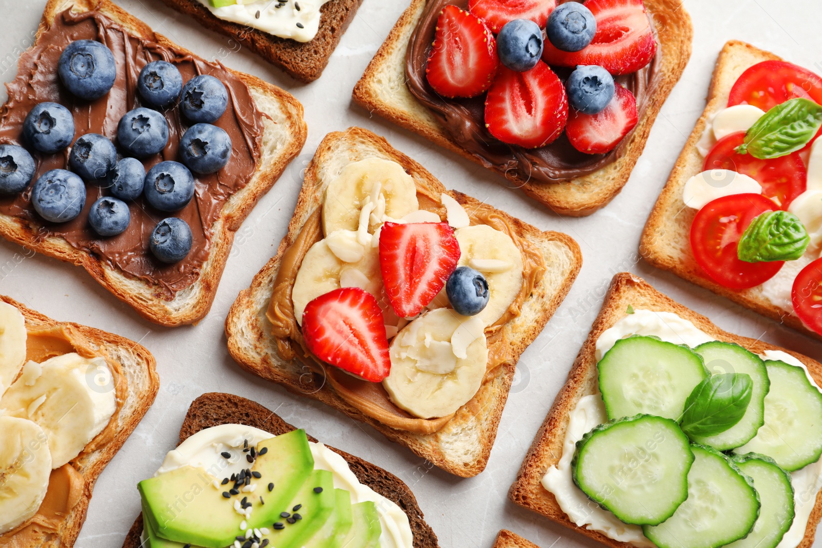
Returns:
[[[382,311],[363,289],[339,288],[309,302],[302,336],[316,357],[365,380],[381,382],[391,370]]]

